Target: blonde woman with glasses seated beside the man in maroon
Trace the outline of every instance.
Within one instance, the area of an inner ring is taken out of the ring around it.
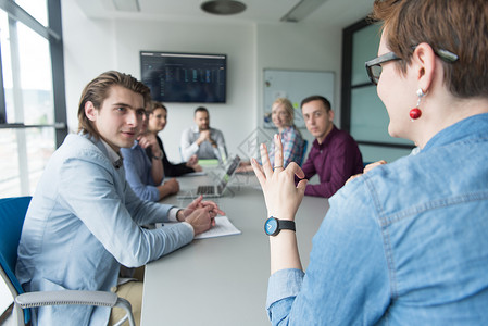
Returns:
[[[271,116],[273,124],[278,128],[283,142],[283,164],[286,167],[290,162],[301,165],[303,156],[303,138],[300,130],[295,126],[295,110],[290,100],[278,98],[273,102]],[[274,141],[270,147],[270,160],[274,164]],[[242,162],[237,172],[251,172],[250,162]]]

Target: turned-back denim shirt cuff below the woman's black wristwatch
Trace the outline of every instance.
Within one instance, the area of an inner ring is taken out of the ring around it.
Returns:
[[[267,283],[266,309],[285,298],[297,297],[300,292],[303,276],[305,273],[301,269],[280,269],[270,276]]]

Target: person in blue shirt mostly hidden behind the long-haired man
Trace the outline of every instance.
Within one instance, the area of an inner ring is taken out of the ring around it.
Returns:
[[[151,106],[149,103],[148,108]],[[163,152],[161,151],[157,136],[147,133],[148,115],[142,123],[141,134],[130,148],[122,148],[124,159],[125,178],[134,192],[143,200],[160,201],[179,191],[179,184],[175,178],[161,184],[164,178]],[[151,152],[148,158],[146,150]]]

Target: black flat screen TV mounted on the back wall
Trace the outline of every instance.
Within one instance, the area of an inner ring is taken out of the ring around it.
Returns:
[[[155,101],[226,101],[226,54],[140,51],[140,70],[141,80]]]

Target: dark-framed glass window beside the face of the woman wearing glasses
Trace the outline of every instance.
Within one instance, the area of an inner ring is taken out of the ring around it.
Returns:
[[[361,21],[343,30],[341,127],[358,141],[363,160],[391,162],[408,155],[411,141],[388,134],[389,117],[364,63],[376,58],[379,26]]]

